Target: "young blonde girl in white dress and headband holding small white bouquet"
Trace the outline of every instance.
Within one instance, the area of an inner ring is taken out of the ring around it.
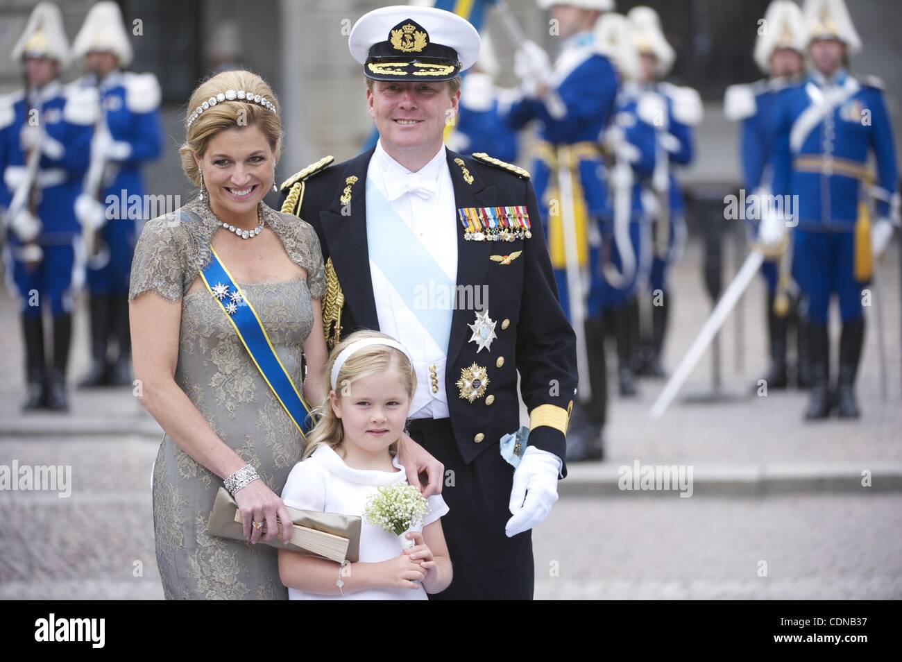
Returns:
[[[398,440],[417,378],[407,351],[391,336],[358,331],[336,346],[327,363],[321,418],[282,491],[300,510],[364,514],[380,485],[406,483]],[[398,538],[365,519],[360,560],[340,566],[318,556],[279,550],[279,575],[290,600],[426,600],[451,584],[441,495],[428,498],[421,526],[401,551]],[[340,580],[340,581],[339,581]]]

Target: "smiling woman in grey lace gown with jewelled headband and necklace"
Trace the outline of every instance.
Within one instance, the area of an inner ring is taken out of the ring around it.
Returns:
[[[302,437],[198,271],[212,244],[316,406],[327,354],[322,254],[310,225],[262,203],[281,149],[277,102],[262,78],[208,79],[186,124],[182,166],[201,197],[144,226],[129,291],[139,395],[166,433],[153,469],[157,565],[168,599],[283,600],[276,549],[255,543],[276,535],[276,516],[290,519],[278,494]],[[247,542],[207,532],[216,491],[235,475],[244,481],[226,486]]]

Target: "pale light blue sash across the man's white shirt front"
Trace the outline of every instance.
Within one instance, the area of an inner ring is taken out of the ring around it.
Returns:
[[[366,181],[366,242],[370,260],[385,274],[410,311],[443,352],[451,336],[456,281],[432,258],[423,244],[369,179]],[[444,291],[448,305],[436,307]]]

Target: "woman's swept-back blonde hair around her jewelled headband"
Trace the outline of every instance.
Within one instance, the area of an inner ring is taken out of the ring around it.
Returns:
[[[225,93],[229,89],[260,95],[271,101],[277,112],[273,113],[263,106],[235,99],[210,106],[198,115],[190,127],[188,126],[188,118],[198,106],[203,105],[208,98],[216,97],[220,92]],[[272,88],[265,80],[251,71],[236,70],[223,71],[198,85],[191,95],[185,115],[185,143],[179,147],[181,169],[185,171],[192,184],[200,186],[200,170],[194,161],[194,155],[203,156],[210,138],[216,133],[239,126],[257,126],[269,141],[276,162],[279,161],[282,144],[279,100],[272,94]]]

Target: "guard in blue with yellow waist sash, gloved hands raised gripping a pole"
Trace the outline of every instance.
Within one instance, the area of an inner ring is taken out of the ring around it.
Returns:
[[[545,214],[548,251],[561,306],[577,335],[583,389],[571,430],[569,459],[598,460],[606,415],[607,376],[601,310],[587,300],[598,270],[599,220],[606,206],[605,176],[598,136],[611,119],[618,80],[611,60],[598,48],[594,25],[612,0],[539,0],[550,8],[560,52],[551,65],[533,41],[516,54],[520,98],[511,105],[514,128],[538,123],[533,168]]]

